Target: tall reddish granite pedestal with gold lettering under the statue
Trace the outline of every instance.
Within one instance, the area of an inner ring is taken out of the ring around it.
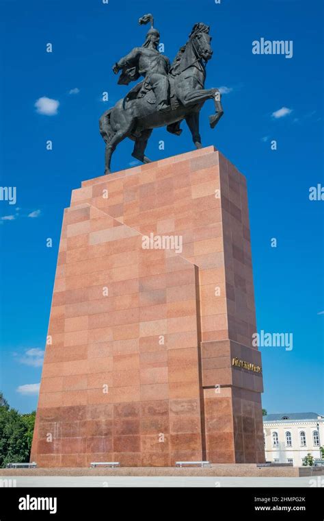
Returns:
[[[83,182],[64,212],[31,461],[265,461],[255,331],[246,181],[220,152]]]

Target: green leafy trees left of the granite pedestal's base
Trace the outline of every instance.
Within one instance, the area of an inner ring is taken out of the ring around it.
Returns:
[[[21,414],[11,409],[0,393],[0,468],[13,461],[29,461],[34,424],[35,412]]]

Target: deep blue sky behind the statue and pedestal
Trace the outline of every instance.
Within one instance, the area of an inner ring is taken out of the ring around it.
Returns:
[[[228,92],[215,130],[212,102],[202,109],[203,144],[247,177],[258,330],[293,333],[293,350],[261,349],[263,407],[324,413],[324,202],[308,197],[323,185],[322,0],[0,0],[0,184],[17,190],[16,205],[0,201],[0,389],[12,407],[36,408],[32,388],[17,389],[40,382],[63,209],[81,180],[103,174],[98,118],[126,93],[111,66],[144,42],[147,12],[171,59],[195,22],[211,25],[206,87]],[[262,37],[293,40],[293,58],[254,55]],[[59,101],[57,114],[37,112],[42,97]],[[183,128],[154,130],[148,156],[192,149]],[[113,170],[129,167],[132,149],[118,147]]]

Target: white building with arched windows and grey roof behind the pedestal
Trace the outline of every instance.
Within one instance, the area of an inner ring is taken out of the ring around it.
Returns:
[[[321,459],[324,446],[324,416],[316,413],[282,413],[263,416],[265,459],[271,463],[303,465],[309,453]]]

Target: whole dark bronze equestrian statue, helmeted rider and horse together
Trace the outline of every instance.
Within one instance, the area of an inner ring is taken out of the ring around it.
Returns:
[[[114,73],[121,71],[118,84],[144,79],[100,117],[100,134],[106,143],[105,173],[111,173],[111,156],[124,138],[135,141],[132,156],[147,163],[150,160],[145,149],[154,128],[166,125],[168,132],[179,136],[180,123],[185,119],[195,147],[201,148],[199,113],[206,99],[215,103],[215,114],[209,117],[211,128],[224,114],[219,90],[204,88],[206,64],[213,55],[208,25],[193,26],[189,40],[170,65],[170,60],[157,50],[160,34],[153,27],[152,14],[139,19],[140,24],[149,21],[151,28],[144,44],[113,66]]]

